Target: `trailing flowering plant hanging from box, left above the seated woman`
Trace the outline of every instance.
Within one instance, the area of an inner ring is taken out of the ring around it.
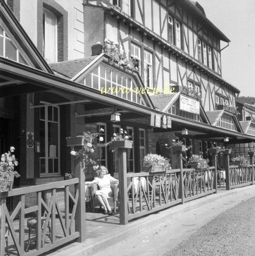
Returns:
[[[97,162],[92,159],[92,155],[95,152],[96,148],[96,138],[98,137],[98,133],[92,133],[90,131],[84,131],[83,132],[84,136],[84,146],[79,151],[75,151],[72,149],[70,152],[73,156],[75,156],[77,159],[83,159],[85,163],[92,164],[93,169],[96,170],[98,169]],[[99,138],[100,141],[102,137]]]

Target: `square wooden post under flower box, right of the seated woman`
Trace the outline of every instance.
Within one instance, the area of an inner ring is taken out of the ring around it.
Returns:
[[[126,148],[118,148],[119,195],[120,195],[120,225],[128,224],[128,198],[126,176]]]

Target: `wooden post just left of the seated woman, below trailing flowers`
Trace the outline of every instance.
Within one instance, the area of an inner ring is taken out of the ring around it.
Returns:
[[[80,147],[74,148],[75,151],[80,150]],[[80,232],[77,239],[78,242],[85,241],[86,236],[86,197],[85,197],[85,163],[84,160],[77,160],[74,168],[74,177],[79,178],[79,183],[75,184],[75,193],[78,189],[78,202],[75,213],[75,231]],[[67,207],[69,209],[69,207]]]

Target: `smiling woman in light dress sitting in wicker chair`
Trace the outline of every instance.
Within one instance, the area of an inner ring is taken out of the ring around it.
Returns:
[[[112,215],[113,212],[108,202],[108,198],[113,196],[110,182],[115,181],[118,184],[119,181],[108,174],[108,170],[105,166],[100,166],[96,172],[97,177],[95,177],[95,179],[91,181],[88,186],[92,186],[93,184],[97,184],[99,186],[99,190],[97,190],[95,193],[96,198],[104,207],[104,214]]]

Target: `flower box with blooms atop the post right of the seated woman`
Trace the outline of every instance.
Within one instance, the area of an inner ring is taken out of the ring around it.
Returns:
[[[132,140],[129,140],[129,136],[126,131],[120,129],[120,134],[114,133],[111,140],[105,143],[106,146],[109,146],[109,150],[114,152],[116,148],[132,148]]]

